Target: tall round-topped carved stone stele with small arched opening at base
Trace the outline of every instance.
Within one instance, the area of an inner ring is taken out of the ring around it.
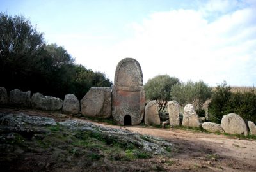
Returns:
[[[118,124],[138,125],[143,119],[144,109],[145,92],[140,64],[132,58],[122,59],[116,66],[112,87],[112,116]]]

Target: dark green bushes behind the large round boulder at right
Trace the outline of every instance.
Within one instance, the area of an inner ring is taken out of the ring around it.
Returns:
[[[231,87],[226,82],[221,83],[212,92],[209,113],[211,120],[218,123],[228,113],[236,113],[244,120],[256,122],[256,94],[253,91],[231,92]]]

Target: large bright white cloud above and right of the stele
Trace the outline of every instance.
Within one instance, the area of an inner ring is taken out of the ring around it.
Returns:
[[[152,13],[142,24],[132,24],[136,37],[116,45],[116,54],[137,58],[145,82],[167,73],[183,81],[204,80],[210,85],[223,80],[231,85],[253,85],[253,10],[233,11],[212,22],[195,10]]]

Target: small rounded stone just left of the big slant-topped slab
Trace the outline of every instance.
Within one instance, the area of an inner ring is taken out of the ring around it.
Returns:
[[[63,113],[77,114],[80,111],[80,102],[74,94],[65,95],[63,102]]]

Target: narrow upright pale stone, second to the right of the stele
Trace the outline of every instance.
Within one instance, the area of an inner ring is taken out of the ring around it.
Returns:
[[[179,126],[180,125],[179,106],[180,105],[177,101],[169,101],[168,102],[170,126]]]

